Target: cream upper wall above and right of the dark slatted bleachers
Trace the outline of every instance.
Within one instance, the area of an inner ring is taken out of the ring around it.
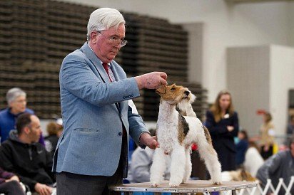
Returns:
[[[108,6],[168,19],[172,23],[203,23],[202,84],[213,102],[219,90],[227,87],[226,55],[228,46],[262,44],[294,45],[294,3],[270,1],[228,4],[223,0],[64,0]],[[292,17],[291,17],[292,16]],[[197,71],[193,69],[192,71]]]

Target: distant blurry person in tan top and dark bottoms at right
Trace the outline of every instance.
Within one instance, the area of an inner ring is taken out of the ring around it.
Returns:
[[[260,154],[263,159],[268,159],[268,157],[273,155],[275,127],[271,121],[272,115],[269,112],[265,112],[263,114],[263,125],[260,127]]]

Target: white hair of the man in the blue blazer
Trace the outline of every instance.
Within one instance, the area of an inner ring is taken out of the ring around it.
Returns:
[[[126,21],[118,10],[111,8],[96,9],[88,19],[87,40],[91,39],[92,31],[108,30],[111,27],[118,28],[121,23],[126,23]]]

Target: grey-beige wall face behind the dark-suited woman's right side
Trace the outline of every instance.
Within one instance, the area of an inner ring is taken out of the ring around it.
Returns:
[[[228,48],[227,78],[240,126],[250,135],[258,135],[262,117],[256,111],[269,110],[269,46]]]

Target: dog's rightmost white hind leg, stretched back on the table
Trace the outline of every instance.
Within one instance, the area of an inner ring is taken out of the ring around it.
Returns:
[[[201,158],[204,160],[213,184],[221,183],[221,166],[218,161],[218,154],[213,149],[213,145],[208,143],[204,134],[197,137],[198,151]]]

